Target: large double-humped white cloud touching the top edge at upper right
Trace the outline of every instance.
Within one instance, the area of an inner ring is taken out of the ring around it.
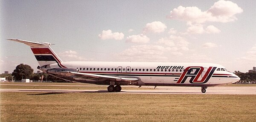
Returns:
[[[243,12],[243,9],[237,6],[236,3],[219,0],[205,12],[195,6],[179,6],[177,9],[173,9],[170,15],[167,15],[167,18],[184,20],[188,23],[205,23],[207,21],[226,23],[236,20],[235,15],[241,12]]]

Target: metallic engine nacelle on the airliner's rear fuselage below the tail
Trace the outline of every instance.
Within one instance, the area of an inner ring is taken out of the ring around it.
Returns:
[[[72,69],[72,68],[53,68],[46,71],[49,74],[54,74],[57,76],[67,76],[68,72],[76,72],[78,73],[78,69]]]

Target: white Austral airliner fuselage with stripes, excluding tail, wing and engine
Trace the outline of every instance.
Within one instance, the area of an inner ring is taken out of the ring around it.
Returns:
[[[119,82],[119,85],[210,87],[232,84],[240,80],[238,76],[228,72],[225,67],[211,63],[71,61],[49,64],[41,70],[46,71],[60,66],[78,69],[79,73],[140,78],[140,81]],[[70,77],[67,77],[67,79],[83,83],[109,84],[108,81],[99,82],[94,81],[93,78],[70,79]]]

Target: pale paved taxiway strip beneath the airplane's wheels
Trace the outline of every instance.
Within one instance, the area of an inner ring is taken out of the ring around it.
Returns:
[[[0,89],[1,92],[47,92],[47,93],[108,93],[108,90],[69,90],[69,89]],[[201,87],[157,87],[152,90],[122,90],[119,93],[144,94],[232,94],[256,95],[256,87],[208,87],[201,93]]]

